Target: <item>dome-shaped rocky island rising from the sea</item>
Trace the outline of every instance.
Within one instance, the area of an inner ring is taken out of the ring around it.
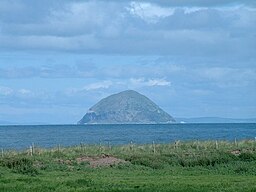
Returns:
[[[91,107],[78,124],[160,124],[172,116],[140,93],[128,90],[111,95]]]

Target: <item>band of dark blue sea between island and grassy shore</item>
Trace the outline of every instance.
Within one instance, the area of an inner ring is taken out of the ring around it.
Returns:
[[[29,125],[0,126],[0,148],[25,149],[85,144],[169,143],[175,140],[254,139],[255,123],[168,125]]]

